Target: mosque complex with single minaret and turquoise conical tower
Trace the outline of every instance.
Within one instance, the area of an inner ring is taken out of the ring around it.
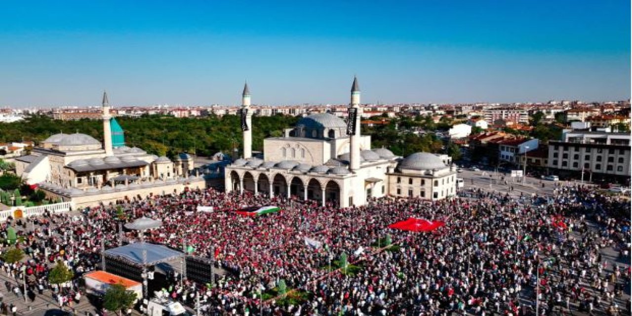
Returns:
[[[127,147],[105,92],[102,111],[103,144],[81,133],[52,135],[30,155],[16,158],[18,176],[47,197],[74,202],[75,207],[205,187],[204,178],[191,172],[190,155],[179,154],[171,161]]]

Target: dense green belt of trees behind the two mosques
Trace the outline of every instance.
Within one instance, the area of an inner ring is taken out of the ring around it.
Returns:
[[[145,115],[141,118],[117,118],[125,130],[126,145],[140,147],[150,154],[173,157],[180,152],[210,156],[241,146],[240,118],[235,115],[204,118],[174,118]],[[262,150],[266,137],[279,137],[283,129],[293,126],[293,116],[254,116],[253,149]],[[60,129],[60,126],[63,128]],[[251,126],[252,128],[252,126]],[[84,133],[103,139],[99,120],[59,121],[47,116],[31,116],[25,121],[0,125],[0,142],[32,140],[41,142],[56,133]]]

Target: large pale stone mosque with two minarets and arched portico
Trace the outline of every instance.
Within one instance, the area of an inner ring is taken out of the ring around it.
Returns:
[[[456,194],[456,168],[446,155],[418,152],[406,158],[371,149],[361,135],[360,87],[354,78],[348,121],[329,113],[301,118],[283,137],[264,140],[263,157],[252,155],[250,90],[242,94],[243,157],[226,166],[226,191],[316,200],[321,205],[364,205],[372,197],[439,200]]]

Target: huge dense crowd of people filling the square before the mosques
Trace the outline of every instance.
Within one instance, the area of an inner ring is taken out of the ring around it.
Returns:
[[[14,222],[28,260],[4,263],[3,270],[20,283],[25,274],[27,292],[18,287],[15,293],[51,291],[60,307],[72,307],[82,298],[80,276],[100,266],[101,240],[106,248],[118,246],[119,219],[147,216],[163,226],[145,241],[178,250],[186,243],[193,255],[212,258],[225,271],[213,284],[189,280],[166,289],[194,308],[199,295],[200,312],[208,316],[629,313],[629,302],[620,306],[617,298],[629,289],[630,270],[601,254],[613,246],[618,260],[629,263],[629,202],[583,186],[562,186],[550,197],[482,190],[462,195],[380,198],[344,209],[212,189],[137,197],[80,214],[45,214],[22,226]],[[234,212],[253,205],[281,212]],[[387,228],[408,217],[446,225],[431,233]],[[317,243],[307,245],[305,238]],[[124,239],[141,238],[128,231]],[[356,269],[336,270],[343,256]],[[58,260],[75,272],[61,286],[47,281]],[[274,291],[282,280],[287,296]]]

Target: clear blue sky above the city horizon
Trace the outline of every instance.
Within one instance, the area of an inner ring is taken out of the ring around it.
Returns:
[[[0,106],[630,97],[629,0],[3,1]]]

